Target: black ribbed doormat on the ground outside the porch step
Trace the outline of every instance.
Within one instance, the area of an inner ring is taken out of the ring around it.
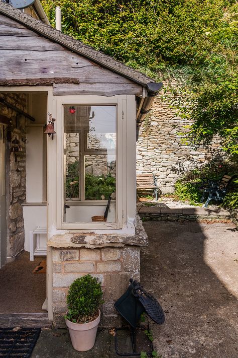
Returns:
[[[41,328],[0,328],[0,356],[30,358]]]

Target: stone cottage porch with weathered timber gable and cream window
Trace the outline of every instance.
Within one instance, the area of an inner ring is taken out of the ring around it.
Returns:
[[[137,123],[161,87],[0,3],[1,265],[24,249],[47,255],[57,326],[75,278],[98,277],[102,325],[115,326],[113,302],[140,277]]]

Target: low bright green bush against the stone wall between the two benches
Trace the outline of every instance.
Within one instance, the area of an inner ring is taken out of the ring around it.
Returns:
[[[201,183],[189,183],[178,180],[175,183],[174,194],[182,201],[189,201],[191,205],[200,202],[202,193],[199,191]]]

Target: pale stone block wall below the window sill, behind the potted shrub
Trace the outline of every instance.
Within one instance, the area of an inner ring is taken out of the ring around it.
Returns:
[[[53,249],[53,313],[55,327],[64,327],[66,296],[70,284],[90,273],[103,289],[102,327],[121,326],[114,302],[127,290],[129,279],[140,280],[140,248],[137,246]]]

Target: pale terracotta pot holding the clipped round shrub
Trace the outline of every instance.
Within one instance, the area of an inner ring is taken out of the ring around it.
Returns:
[[[97,327],[101,317],[100,310],[98,312],[97,318],[88,323],[73,323],[67,318],[65,320],[66,326],[69,329],[72,346],[79,352],[85,352],[95,344]]]

